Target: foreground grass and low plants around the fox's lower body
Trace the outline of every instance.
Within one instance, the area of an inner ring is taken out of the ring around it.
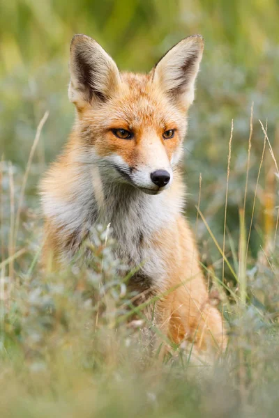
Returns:
[[[251,260],[250,252],[246,254],[243,209],[236,254],[225,245],[226,220],[222,249],[198,207],[199,219],[220,253],[216,263],[204,265],[204,270],[211,300],[227,320],[229,346],[213,364],[193,361],[192,350],[183,346],[174,347],[162,363],[163,336],[144,317],[144,305],[131,307],[134,295],[126,287],[130,273],[121,261],[114,260],[116,243],[107,227],[91,231],[78,257],[83,260],[90,249],[92,258],[90,262],[84,259],[81,268],[73,265],[61,274],[40,269],[41,220],[38,212],[29,210],[24,190],[46,119],[47,114],[38,126],[23,176],[11,163],[1,162],[1,416],[182,417],[186,411],[193,417],[273,416],[279,387],[276,236],[271,247],[263,240],[257,259]],[[267,132],[263,131],[257,185],[269,157]],[[249,149],[250,141],[248,155]],[[269,153],[276,169],[271,146]],[[200,178],[200,194],[201,189]],[[276,215],[275,207],[266,214],[273,222]],[[224,272],[221,278],[216,265]],[[117,273],[119,268],[126,271],[121,276],[124,279]],[[234,281],[228,279],[226,268]],[[127,322],[135,314],[137,319]]]

